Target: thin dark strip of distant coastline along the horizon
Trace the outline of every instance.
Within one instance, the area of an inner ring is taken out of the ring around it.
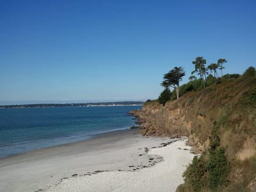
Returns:
[[[87,103],[39,103],[24,105],[2,105],[0,108],[31,108],[31,107],[96,107],[96,106],[135,106],[143,105],[143,101],[87,102]]]

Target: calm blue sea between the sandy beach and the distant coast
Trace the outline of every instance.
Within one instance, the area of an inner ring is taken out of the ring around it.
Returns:
[[[130,129],[134,109],[141,106],[0,109],[0,158]]]

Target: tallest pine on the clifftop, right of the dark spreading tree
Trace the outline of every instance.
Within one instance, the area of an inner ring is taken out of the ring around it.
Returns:
[[[206,60],[203,57],[197,57],[195,61],[192,61],[195,65],[195,70],[191,72],[191,75],[197,72],[197,75],[200,76],[204,87],[205,87],[205,79],[207,74],[207,68],[205,68]]]

